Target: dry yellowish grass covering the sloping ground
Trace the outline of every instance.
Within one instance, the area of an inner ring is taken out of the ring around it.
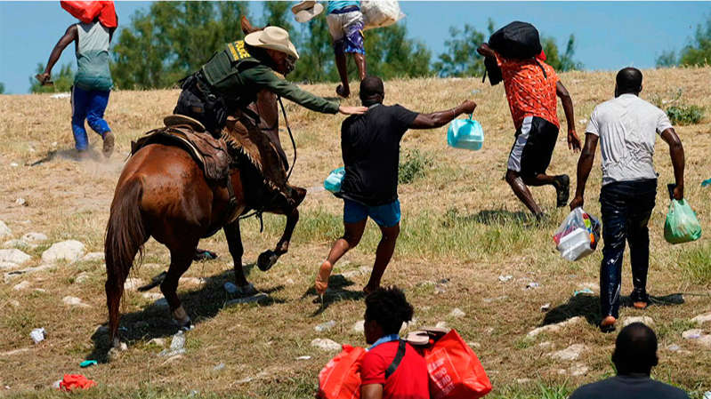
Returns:
[[[711,68],[650,70],[644,74],[642,97],[658,94],[664,99],[681,88],[687,102],[711,108],[711,87],[702,84],[711,81]],[[613,74],[571,72],[562,74],[562,82],[571,92],[576,119],[581,121],[589,117],[597,103],[610,98]],[[333,95],[334,89],[324,84],[305,88],[325,96]],[[467,341],[479,344],[475,351],[492,379],[494,396],[564,397],[581,383],[610,375],[614,335],[602,335],[593,324],[597,297],[570,298],[579,283],[597,282],[602,255],[598,251],[576,263],[560,259],[551,235],[565,211],[553,208],[553,189],[534,189],[534,196],[553,216],[549,223],[536,224],[522,213],[523,206],[501,180],[513,140],[503,87],[490,87],[476,78],[402,80],[386,83],[386,93],[387,103],[418,111],[449,108],[473,97],[479,103],[474,115],[487,137],[481,151],[468,152],[446,146],[445,128],[408,132],[405,136],[402,148],[420,149],[432,157],[433,166],[425,179],[400,187],[403,231],[384,283],[407,290],[419,325],[446,321]],[[162,116],[172,111],[177,95],[177,91],[112,93],[106,115],[117,132],[117,154],[109,162],[84,163],[70,159],[73,140],[69,100],[49,95],[0,96],[0,219],[12,228],[15,237],[40,231],[50,236],[50,242],[73,238],[85,243],[88,251],[101,251],[110,199],[130,140],[158,126]],[[356,101],[347,103],[354,105]],[[299,148],[293,183],[307,188],[320,186],[327,172],[341,165],[339,126],[343,117],[322,116],[290,103],[287,112]],[[562,110],[559,114],[563,121]],[[585,126],[578,122],[578,133],[582,134]],[[711,189],[700,188],[699,182],[711,177],[711,121],[707,117],[701,124],[679,127],[677,132],[686,150],[687,197],[708,233]],[[97,139],[91,136],[93,145],[99,148]],[[52,151],[56,151],[53,159],[28,166]],[[291,153],[290,148],[287,153]],[[572,176],[577,159],[561,135],[549,171]],[[655,162],[659,186],[664,188],[673,174],[666,145],[660,140]],[[11,163],[20,166],[12,167]],[[586,197],[586,209],[597,215],[599,189],[598,166]],[[28,206],[16,205],[18,197],[25,198]],[[650,221],[650,293],[708,295],[711,239],[707,234],[697,243],[667,244],[662,236],[666,189],[659,190],[657,201]],[[307,197],[291,252],[270,272],[254,271],[248,276],[257,288],[271,293],[273,300],[266,304],[223,307],[228,297],[222,283],[232,278],[224,235],[219,233],[201,243],[222,257],[196,263],[187,273],[206,277],[206,286],[181,287],[185,307],[197,321],[197,328],[187,334],[188,351],[181,358],[158,357],[160,348],[148,344],[154,337],[169,340],[174,333],[166,310],[151,306],[152,301],[139,293],[127,291],[122,325],[130,338],[129,349],[112,363],[83,371],[78,368],[78,363],[106,344],[106,336],[94,332],[106,322],[101,262],[60,265],[0,283],[0,386],[10,387],[2,395],[53,397],[48,387],[54,380],[61,379],[63,373],[84,372],[101,384],[100,389],[87,392],[88,397],[184,397],[193,389],[207,397],[311,397],[316,375],[331,356],[310,347],[311,339],[327,337],[364,345],[351,326],[362,316],[359,292],[368,275],[351,279],[336,276],[335,292],[340,296],[332,296],[321,313],[312,303],[312,291],[308,291],[319,260],[341,233],[341,206],[325,192]],[[263,235],[255,220],[244,223],[247,262],[276,243],[283,223],[283,219],[267,216]],[[336,266],[335,273],[369,267],[378,238],[376,228],[368,227],[361,246]],[[28,251],[33,255],[29,266],[39,263],[47,246]],[[146,264],[134,270],[133,276],[147,281],[164,269],[167,261],[166,249],[151,241]],[[623,292],[631,289],[627,265]],[[89,278],[77,283],[76,277],[82,272]],[[502,274],[513,275],[513,280],[500,283],[497,276]],[[446,291],[435,294],[428,282],[443,278],[449,279]],[[28,289],[12,289],[25,280],[30,283]],[[529,281],[541,287],[526,290]],[[91,307],[66,307],[61,302],[66,295],[77,296]],[[660,339],[660,365],[655,377],[700,397],[711,389],[711,356],[708,349],[681,339],[681,332],[691,327],[688,320],[692,316],[711,311],[711,305],[707,296],[685,298],[682,306],[650,307],[644,312],[623,308],[621,314],[650,315],[655,320]],[[547,302],[553,310],[546,315],[539,307]],[[460,307],[466,316],[449,317],[452,307]],[[585,315],[592,323],[570,326],[533,341],[523,339],[534,327],[571,315]],[[336,321],[332,331],[314,331],[316,324],[328,320]],[[34,346],[28,333],[40,326],[48,331],[48,339]],[[711,329],[709,325],[705,328],[707,332]],[[544,341],[551,342],[556,350],[584,343],[588,349],[577,363],[589,371],[575,377],[561,374],[559,371],[569,369],[572,363],[549,358],[547,354],[553,349],[538,345]],[[667,350],[671,344],[683,350]],[[16,349],[26,350],[7,355]],[[313,357],[295,360],[299,355]],[[225,364],[222,371],[214,371],[218,363]],[[255,379],[238,382],[246,377]]]

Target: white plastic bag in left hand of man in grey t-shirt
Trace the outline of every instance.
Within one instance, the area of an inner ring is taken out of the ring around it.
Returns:
[[[597,248],[600,221],[578,207],[555,230],[553,241],[563,259],[583,259]]]

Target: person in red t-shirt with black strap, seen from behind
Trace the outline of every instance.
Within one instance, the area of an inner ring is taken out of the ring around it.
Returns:
[[[427,364],[398,335],[413,308],[397,287],[378,288],[366,297],[364,334],[371,345],[360,368],[362,399],[428,399]]]

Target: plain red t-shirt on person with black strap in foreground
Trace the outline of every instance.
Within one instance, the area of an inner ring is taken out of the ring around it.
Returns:
[[[398,341],[385,342],[368,351],[360,368],[360,385],[382,384],[383,399],[429,399],[427,364],[409,344],[398,369],[385,379],[398,345]]]

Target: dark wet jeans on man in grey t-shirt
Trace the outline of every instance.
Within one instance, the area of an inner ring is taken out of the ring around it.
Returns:
[[[602,264],[600,265],[600,307],[602,317],[619,317],[619,289],[622,254],[629,243],[632,264],[633,300],[647,298],[647,269],[650,266],[651,210],[657,196],[657,180],[620,181],[602,186]]]

